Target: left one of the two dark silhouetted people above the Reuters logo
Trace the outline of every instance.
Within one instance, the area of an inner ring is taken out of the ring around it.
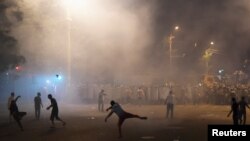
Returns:
[[[232,119],[233,124],[238,125],[239,120],[239,104],[237,103],[235,97],[232,97],[231,110],[229,111],[227,117],[229,117],[233,113]]]

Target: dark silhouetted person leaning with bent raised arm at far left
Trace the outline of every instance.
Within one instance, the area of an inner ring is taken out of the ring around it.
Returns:
[[[21,96],[17,96],[16,99],[11,101],[10,104],[10,113],[13,116],[13,118],[15,119],[15,121],[17,122],[18,126],[20,127],[20,129],[23,131],[23,126],[21,123],[21,119],[23,118],[23,116],[25,116],[27,113],[26,112],[19,112],[18,107],[17,107],[17,100],[18,98],[20,98]]]

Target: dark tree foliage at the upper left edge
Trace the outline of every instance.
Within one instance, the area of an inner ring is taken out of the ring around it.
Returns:
[[[22,21],[22,12],[15,0],[2,0],[0,3],[0,72],[14,69],[25,63],[19,52],[18,41],[11,36],[11,28]]]

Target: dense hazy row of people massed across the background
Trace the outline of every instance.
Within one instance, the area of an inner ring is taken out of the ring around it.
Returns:
[[[250,99],[250,85],[204,83],[178,85],[111,85],[111,84],[88,84],[79,87],[78,93],[83,102],[95,103],[99,92],[104,89],[107,93],[102,101],[111,99],[119,100],[121,103],[130,104],[163,104],[170,90],[174,91],[177,104],[216,104],[228,105],[231,97],[239,99],[244,96],[246,101]],[[101,96],[103,98],[103,96]]]

